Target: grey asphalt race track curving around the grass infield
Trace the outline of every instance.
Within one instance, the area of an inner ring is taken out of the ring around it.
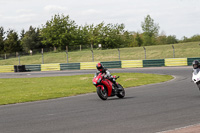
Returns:
[[[200,92],[191,82],[191,67],[110,71],[168,74],[175,79],[165,83],[126,88],[124,99],[111,97],[102,101],[96,93],[90,93],[3,105],[0,106],[0,133],[156,133],[200,123]],[[94,72],[95,70],[9,73],[0,74],[0,78],[65,76]]]

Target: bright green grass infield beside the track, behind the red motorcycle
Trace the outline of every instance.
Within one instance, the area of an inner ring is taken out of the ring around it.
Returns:
[[[118,82],[126,87],[140,86],[171,80],[170,75],[115,73]],[[113,74],[114,75],[114,74]],[[93,74],[0,79],[0,105],[68,97],[96,92]]]

